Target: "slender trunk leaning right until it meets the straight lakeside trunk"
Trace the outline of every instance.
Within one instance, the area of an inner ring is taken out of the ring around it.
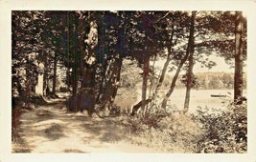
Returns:
[[[196,14],[195,14],[196,15]],[[195,15],[191,17],[191,22],[194,22],[194,19],[195,19]],[[192,30],[193,29],[193,30]],[[188,47],[187,47],[187,50],[186,50],[186,54],[185,56],[183,57],[183,59],[181,59],[178,67],[177,67],[177,70],[175,72],[175,77],[172,81],[172,84],[170,86],[170,89],[169,91],[166,93],[163,101],[162,101],[162,108],[166,111],[166,106],[167,106],[167,102],[168,102],[168,99],[169,97],[172,95],[172,93],[174,92],[175,90],[175,83],[176,83],[176,80],[177,80],[177,77],[178,77],[178,74],[179,72],[181,71],[181,68],[183,67],[184,63],[186,62],[186,60],[188,59],[189,55],[190,55],[190,49],[191,47],[189,45],[191,45],[192,41],[194,41],[194,24],[191,23],[191,27],[190,27],[190,35],[189,35],[189,40],[188,40]]]

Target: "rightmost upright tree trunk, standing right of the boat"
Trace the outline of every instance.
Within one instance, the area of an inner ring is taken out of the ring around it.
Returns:
[[[234,75],[234,100],[240,105],[243,103],[243,47],[242,47],[242,33],[244,28],[242,11],[236,11],[235,22],[235,75]]]

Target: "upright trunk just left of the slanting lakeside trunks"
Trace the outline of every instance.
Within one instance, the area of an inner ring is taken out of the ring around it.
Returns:
[[[147,88],[148,88],[148,79],[149,79],[149,72],[150,72],[150,57],[144,57],[144,64],[143,64],[143,80],[142,80],[142,94],[141,94],[141,110],[145,115],[147,112],[146,109],[146,100],[147,100]]]

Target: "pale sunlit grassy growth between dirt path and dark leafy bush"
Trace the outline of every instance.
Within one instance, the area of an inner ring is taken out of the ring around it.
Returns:
[[[130,141],[160,152],[194,152],[202,136],[199,124],[190,115],[155,111],[144,117],[125,118]]]

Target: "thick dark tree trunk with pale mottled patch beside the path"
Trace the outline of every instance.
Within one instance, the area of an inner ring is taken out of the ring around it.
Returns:
[[[97,46],[97,37],[98,37],[98,31],[97,31],[97,24],[93,23],[94,22],[94,17],[93,15],[90,15],[88,17],[89,22],[90,22],[90,33],[88,34],[89,36],[85,36],[85,45],[83,45],[84,48],[84,54],[82,57],[82,64],[81,66],[77,66],[78,64],[78,59],[81,59],[81,56],[79,57],[77,54],[75,54],[75,64],[73,66],[77,68],[81,68],[81,91],[79,92],[74,92],[73,90],[73,96],[70,98],[69,103],[74,103],[75,106],[71,106],[70,108],[73,107],[75,111],[83,111],[87,110],[89,116],[92,116],[93,112],[95,111],[95,73],[96,73],[96,66],[97,66],[97,58],[95,56],[95,51],[94,47]],[[84,22],[81,22],[84,23]],[[75,32],[77,32],[77,29],[75,29]],[[85,33],[86,34],[86,33]],[[77,35],[77,34],[75,34]],[[87,38],[87,39],[86,39]],[[77,45],[77,39],[75,39],[75,45]],[[74,53],[77,53],[76,51],[77,47],[75,46]],[[75,70],[76,71],[76,70]],[[78,71],[76,71],[75,77],[77,77]],[[77,88],[77,81],[78,78],[74,78],[73,81],[76,81],[76,84],[73,83],[73,89],[74,86]]]

